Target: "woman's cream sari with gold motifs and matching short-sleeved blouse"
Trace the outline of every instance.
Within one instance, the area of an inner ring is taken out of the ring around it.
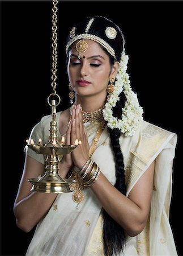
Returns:
[[[32,130],[31,138],[48,141],[50,115],[41,119]],[[59,113],[57,113],[59,119]],[[58,122],[57,122],[58,123]],[[59,134],[58,134],[59,135]],[[41,136],[41,137],[40,137]],[[94,135],[88,137],[91,145]],[[169,205],[172,195],[172,166],[177,135],[143,121],[133,137],[120,137],[124,156],[127,193],[155,160],[154,187],[150,216],[146,228],[136,237],[127,238],[120,255],[177,255],[171,226]],[[44,163],[44,156],[25,148],[27,155]],[[114,185],[116,181],[113,151],[105,127],[91,159]],[[48,214],[39,222],[26,256],[104,255],[102,242],[102,205],[92,192],[83,191],[84,201],[76,207],[71,193],[59,194]]]

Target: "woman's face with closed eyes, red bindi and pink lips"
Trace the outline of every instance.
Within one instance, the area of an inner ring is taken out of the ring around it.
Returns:
[[[98,43],[88,39],[86,42],[87,51],[80,54],[80,59],[75,48],[77,42],[69,51],[67,72],[70,85],[79,96],[106,94],[109,77],[112,77],[110,73],[114,68],[110,66],[109,56]]]

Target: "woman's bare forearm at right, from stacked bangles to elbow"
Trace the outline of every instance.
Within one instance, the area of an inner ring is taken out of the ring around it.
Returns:
[[[129,236],[135,236],[143,230],[146,220],[142,209],[118,191],[101,172],[91,188],[103,208]]]

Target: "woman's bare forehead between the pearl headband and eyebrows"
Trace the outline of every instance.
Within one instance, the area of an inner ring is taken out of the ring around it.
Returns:
[[[107,53],[105,53],[105,51],[101,48],[100,44],[96,43],[93,40],[89,40],[89,39],[84,39],[87,44],[88,44],[88,48],[87,50],[83,53],[84,55],[107,55]],[[78,51],[76,50],[76,43],[78,43],[78,41],[76,41],[70,48],[70,53],[73,53],[75,55],[78,55]]]

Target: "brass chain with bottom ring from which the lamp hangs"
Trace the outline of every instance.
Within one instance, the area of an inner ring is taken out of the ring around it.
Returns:
[[[57,38],[58,38],[58,35],[57,35],[57,11],[58,11],[58,8],[57,8],[57,3],[58,1],[57,0],[53,0],[53,8],[52,8],[52,11],[53,11],[53,15],[52,15],[52,48],[53,48],[53,51],[52,51],[52,87],[53,87],[53,93],[50,94],[50,96],[57,96],[58,97],[58,103],[56,106],[58,106],[58,104],[61,102],[61,98],[58,96],[57,92],[56,92],[56,86],[57,86]],[[48,101],[48,104],[51,106],[50,102],[49,102],[49,99],[50,99],[50,96],[48,97],[47,101]]]

